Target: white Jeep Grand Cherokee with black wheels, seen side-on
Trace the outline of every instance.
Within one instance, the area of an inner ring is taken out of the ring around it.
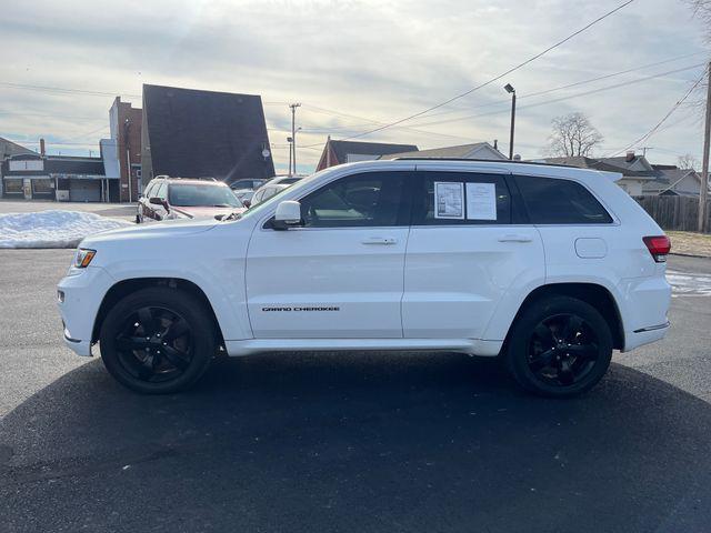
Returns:
[[[241,215],[86,239],[59,284],[67,344],[144,393],[229,355],[497,356],[570,396],[664,336],[670,243],[618,174],[395,160],[318,172]]]

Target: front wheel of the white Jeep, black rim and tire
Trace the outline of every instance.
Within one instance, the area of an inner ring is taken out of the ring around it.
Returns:
[[[189,389],[218,349],[210,310],[193,295],[164,286],[120,300],[107,314],[99,342],[109,373],[143,394]]]

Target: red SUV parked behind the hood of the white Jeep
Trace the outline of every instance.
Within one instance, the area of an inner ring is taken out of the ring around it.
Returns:
[[[246,209],[221,181],[160,177],[150,181],[139,199],[136,223],[147,220],[213,219]]]

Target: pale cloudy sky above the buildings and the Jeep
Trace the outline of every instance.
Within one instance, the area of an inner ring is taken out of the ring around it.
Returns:
[[[288,158],[287,103],[303,104],[298,141],[313,147],[298,158],[308,171],[327,134],[342,139],[447,100],[621,1],[2,0],[0,137],[30,148],[43,137],[51,153],[96,154],[109,134],[110,95],[11,83],[122,94],[136,107],[142,83],[243,92],[262,97],[278,169]],[[362,140],[435,148],[499,139],[508,152],[502,86],[509,82],[519,95],[517,153],[540,157],[551,119],[582,111],[604,137],[597,152],[604,155],[647,133],[699,79],[709,56],[703,29],[682,1],[635,0],[500,82]],[[672,61],[527,98],[664,60]],[[633,80],[640,81],[612,87]],[[652,162],[675,162],[687,152],[700,157],[701,137],[699,110],[683,105],[644,144]]]

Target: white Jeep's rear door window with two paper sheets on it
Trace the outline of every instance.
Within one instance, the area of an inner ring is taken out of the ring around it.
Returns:
[[[510,224],[511,194],[500,174],[418,171],[413,225]]]

